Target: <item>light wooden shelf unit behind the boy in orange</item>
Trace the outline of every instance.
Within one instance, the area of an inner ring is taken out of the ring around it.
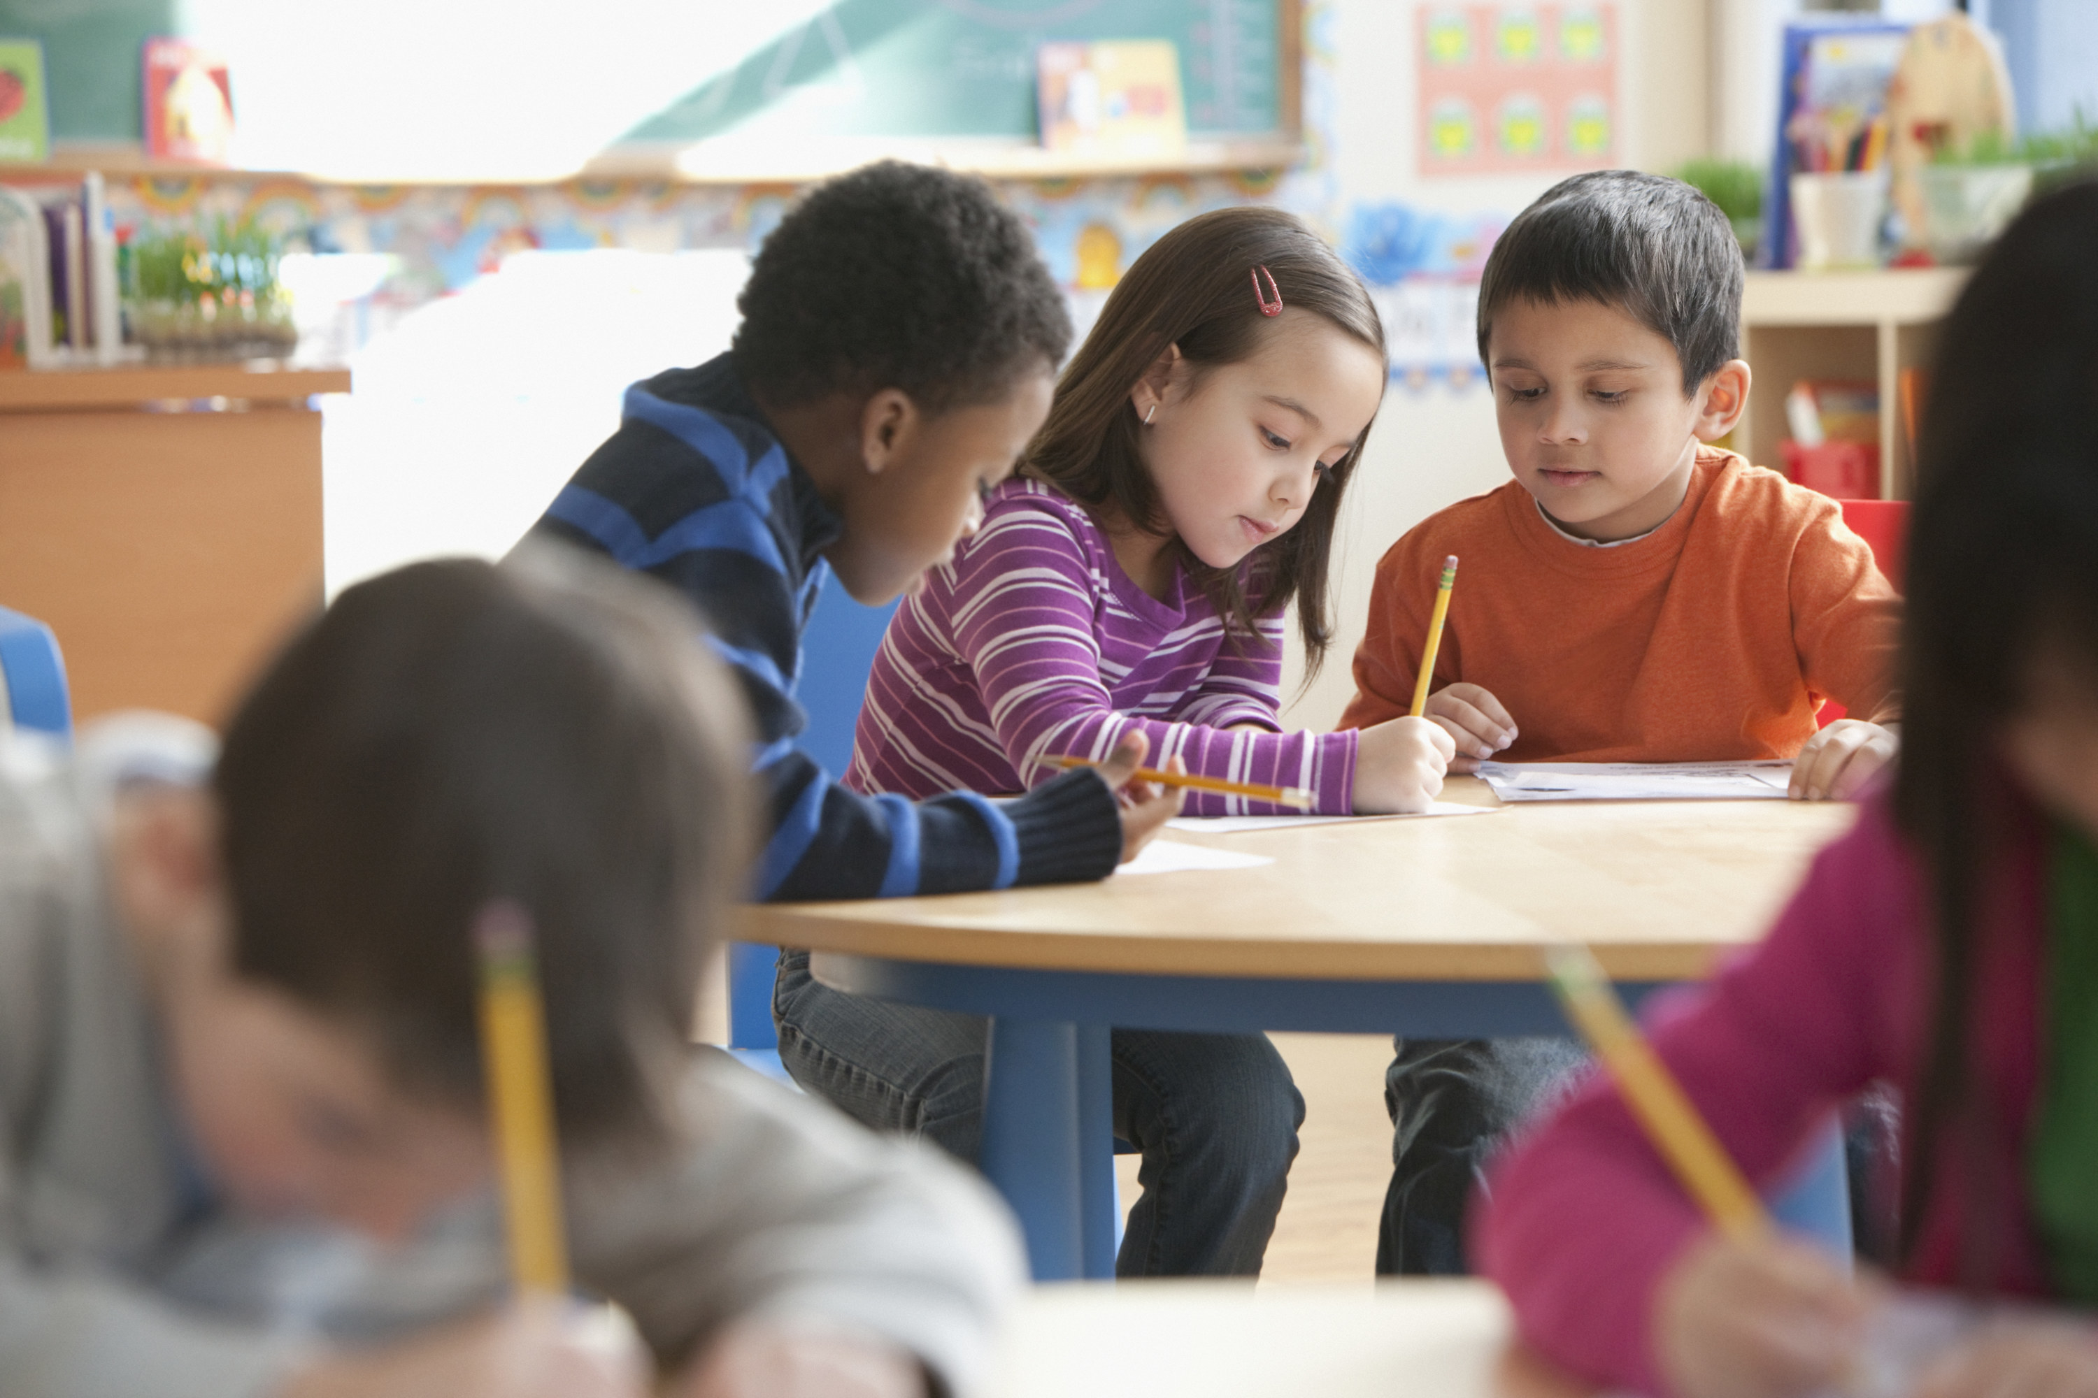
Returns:
[[[1920,411],[1911,373],[1928,369],[1939,323],[1968,268],[1861,272],[1750,272],[1741,296],[1741,358],[1754,371],[1748,417],[1735,446],[1781,467],[1785,396],[1800,381],[1871,384],[1880,417],[1880,499],[1907,499],[1915,461],[1909,413]],[[1907,409],[1907,411],[1905,411]]]

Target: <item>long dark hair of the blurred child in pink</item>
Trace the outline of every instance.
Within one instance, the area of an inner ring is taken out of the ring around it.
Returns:
[[[2048,817],[2004,765],[1999,734],[2054,652],[2098,683],[2098,184],[2018,216],[1939,333],[1918,438],[1903,734],[1894,820],[1928,874],[1932,1014],[1907,1102],[1903,1243],[1962,1191],[1964,1266],[2014,1226],[2008,1180],[1976,1142],[2001,1102],[1976,1071],[1981,1006],[2010,964],[1997,910],[2027,893],[2018,847]],[[2043,868],[2043,866],[2041,866]],[[2031,975],[2027,970],[2027,975]],[[2046,1012],[2046,1006],[2041,1006]],[[1978,1174],[1981,1172],[1981,1174]]]

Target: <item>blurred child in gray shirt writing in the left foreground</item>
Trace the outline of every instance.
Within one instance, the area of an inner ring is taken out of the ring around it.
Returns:
[[[348,589],[212,738],[0,738],[0,1392],[967,1394],[1020,1285],[932,1151],[688,1044],[741,700],[583,560]],[[545,987],[581,1306],[506,1299],[472,929]],[[629,1346],[631,1350],[631,1346]]]

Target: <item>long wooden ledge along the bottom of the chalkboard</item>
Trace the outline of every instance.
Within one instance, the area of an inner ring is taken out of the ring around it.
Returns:
[[[109,176],[304,180],[308,184],[566,184],[573,180],[661,180],[669,184],[806,184],[843,174],[873,159],[908,159],[967,170],[994,180],[1070,180],[1143,174],[1229,174],[1236,170],[1288,170],[1303,163],[1305,147],[1288,136],[1261,140],[1190,140],[1181,155],[1101,157],[1045,151],[1030,140],[952,138],[841,138],[810,147],[776,145],[623,145],[602,151],[575,170],[472,170],[392,174],[380,170],[231,170],[187,161],[147,159],[134,145],[59,147],[40,166],[0,163],[0,182],[61,182],[88,170]]]

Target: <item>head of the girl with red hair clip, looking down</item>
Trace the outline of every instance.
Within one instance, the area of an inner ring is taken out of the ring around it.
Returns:
[[[1173,537],[1240,629],[1240,564],[1257,558],[1261,610],[1294,599],[1315,664],[1334,520],[1383,392],[1385,329],[1362,279],[1282,210],[1217,210],[1116,283],[1028,469],[1110,528]]]

